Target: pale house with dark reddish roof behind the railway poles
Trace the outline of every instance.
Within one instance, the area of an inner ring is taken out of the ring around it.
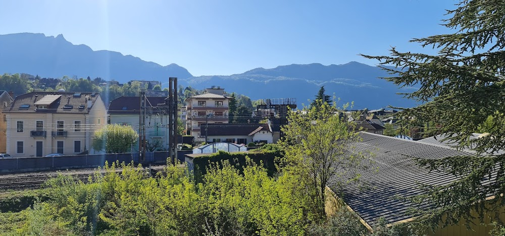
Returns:
[[[157,142],[155,150],[168,150],[167,127],[168,114],[158,105],[165,104],[164,97],[145,97],[145,140]],[[109,122],[111,124],[130,125],[139,132],[140,97],[120,97],[109,104]],[[140,132],[139,132],[140,133]],[[140,137],[139,137],[140,138]],[[161,142],[161,143],[160,143]],[[133,146],[138,151],[139,141]]]

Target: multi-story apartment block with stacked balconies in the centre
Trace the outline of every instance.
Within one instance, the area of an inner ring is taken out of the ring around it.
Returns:
[[[206,93],[186,99],[186,129],[195,141],[205,141],[205,124],[228,123],[228,102],[224,88],[212,86]]]

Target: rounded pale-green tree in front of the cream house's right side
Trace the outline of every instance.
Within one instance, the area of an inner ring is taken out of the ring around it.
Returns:
[[[126,153],[138,140],[138,133],[129,125],[108,124],[96,130],[92,147],[106,153]]]

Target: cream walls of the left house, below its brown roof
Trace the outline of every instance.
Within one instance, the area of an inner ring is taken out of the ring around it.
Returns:
[[[87,113],[7,113],[7,153],[12,157],[95,153],[93,132],[107,124],[107,110],[99,96],[88,106]]]

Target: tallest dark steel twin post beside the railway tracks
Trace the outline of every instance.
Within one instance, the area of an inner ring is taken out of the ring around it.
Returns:
[[[168,108],[168,150],[172,164],[175,165],[177,158],[177,77],[168,78],[168,101],[165,105]]]

